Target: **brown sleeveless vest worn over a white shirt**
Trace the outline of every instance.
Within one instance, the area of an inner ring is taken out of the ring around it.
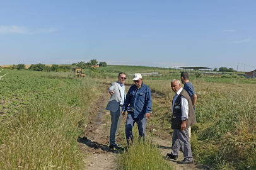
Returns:
[[[187,99],[189,103],[189,118],[187,119],[186,127],[190,127],[194,125],[196,122],[194,108],[189,97],[189,94],[184,89],[180,92],[177,99],[173,101],[173,115],[172,115],[172,129],[180,129],[182,125],[182,108],[181,108],[181,101],[182,96]]]

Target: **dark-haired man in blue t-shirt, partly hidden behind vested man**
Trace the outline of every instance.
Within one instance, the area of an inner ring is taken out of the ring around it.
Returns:
[[[194,107],[195,111],[195,103],[197,102],[197,94],[195,93],[195,89],[193,84],[189,81],[189,73],[188,72],[182,72],[180,74],[180,79],[182,80],[182,84],[184,84],[185,91],[189,93],[190,99],[192,101],[192,105]],[[191,127],[189,127],[189,139],[191,138]]]

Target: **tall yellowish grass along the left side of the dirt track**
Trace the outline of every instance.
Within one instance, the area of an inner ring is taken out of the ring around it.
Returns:
[[[2,120],[1,169],[83,169],[77,137],[100,88],[90,78],[59,81],[53,93],[30,93],[30,103]]]

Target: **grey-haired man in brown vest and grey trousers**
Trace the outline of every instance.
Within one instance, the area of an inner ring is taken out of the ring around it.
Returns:
[[[192,164],[193,157],[189,140],[189,127],[196,123],[194,108],[187,91],[178,79],[171,82],[172,91],[175,93],[172,101],[172,152],[167,154],[170,159],[178,159],[178,150],[182,148],[184,159],[178,164]]]

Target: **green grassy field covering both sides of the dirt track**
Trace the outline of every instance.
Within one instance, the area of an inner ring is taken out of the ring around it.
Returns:
[[[78,136],[90,119],[90,106],[104,91],[103,84],[117,81],[120,71],[162,74],[144,76],[143,81],[163,94],[153,101],[151,123],[162,133],[172,133],[170,81],[180,79],[179,73],[158,67],[109,65],[86,70],[86,78],[78,78],[72,72],[5,69],[1,75],[8,74],[0,80],[1,169],[84,169]],[[125,83],[132,84],[132,76],[127,77]],[[198,123],[192,127],[195,161],[212,169],[256,169],[256,79],[191,73],[190,81],[197,93]],[[122,153],[122,167],[132,169],[125,160],[139,164],[132,156],[141,152],[159,162],[156,146],[147,143],[147,147],[151,152],[135,148]],[[163,162],[156,168],[169,167]]]

